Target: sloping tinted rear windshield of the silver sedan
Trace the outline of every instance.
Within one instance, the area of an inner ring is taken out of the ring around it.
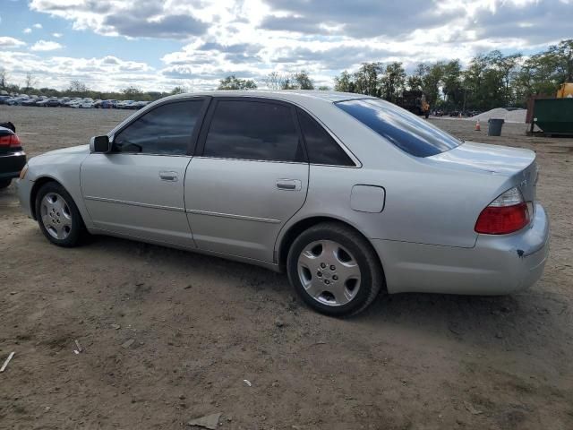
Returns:
[[[381,99],[356,99],[336,104],[363,125],[415,157],[430,157],[462,143],[419,116]]]

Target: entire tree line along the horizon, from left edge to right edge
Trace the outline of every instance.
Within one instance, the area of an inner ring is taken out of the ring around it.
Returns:
[[[261,80],[270,90],[329,90],[316,87],[308,72],[269,73]],[[459,60],[417,64],[406,73],[401,62],[363,63],[355,71],[344,71],[334,78],[334,90],[367,94],[396,102],[404,90],[421,90],[432,108],[446,110],[489,110],[493,107],[525,107],[532,95],[554,96],[563,82],[573,82],[573,39],[533,56],[504,55],[498,50],[479,54],[463,67]],[[120,91],[90,90],[80,81],[70,82],[66,90],[36,88],[36,79],[26,75],[23,86],[9,82],[0,67],[0,90],[27,92],[48,97],[90,97],[92,99],[156,100],[186,92],[177,86],[170,92],[142,91],[130,86]],[[229,75],[217,90],[256,90],[258,83]]]

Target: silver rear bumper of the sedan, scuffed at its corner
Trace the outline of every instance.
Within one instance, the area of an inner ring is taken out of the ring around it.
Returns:
[[[543,206],[530,226],[507,236],[480,235],[473,248],[373,240],[390,293],[501,295],[529,288],[543,274],[550,226]]]

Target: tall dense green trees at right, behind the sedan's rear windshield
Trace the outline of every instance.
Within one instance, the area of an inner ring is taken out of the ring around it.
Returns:
[[[438,61],[406,74],[400,62],[363,63],[353,73],[340,73],[334,89],[392,102],[403,90],[422,90],[432,107],[489,110],[525,107],[532,95],[554,97],[564,82],[573,82],[573,39],[533,56],[494,50],[475,56],[466,68],[459,60]]]

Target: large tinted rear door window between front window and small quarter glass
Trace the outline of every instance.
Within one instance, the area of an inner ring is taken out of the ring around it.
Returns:
[[[304,161],[293,109],[266,101],[218,100],[205,157]]]

